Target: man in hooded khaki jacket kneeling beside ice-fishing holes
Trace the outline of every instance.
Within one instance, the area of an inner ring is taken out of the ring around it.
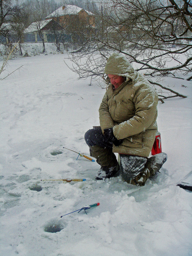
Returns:
[[[143,186],[167,159],[165,153],[148,158],[157,132],[158,95],[120,53],[108,58],[105,74],[110,84],[99,108],[100,127],[85,133],[90,155],[101,165],[96,180],[118,173],[114,153],[119,153],[122,178]]]

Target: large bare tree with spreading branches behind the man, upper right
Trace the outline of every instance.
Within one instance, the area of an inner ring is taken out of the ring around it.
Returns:
[[[116,51],[158,86],[161,84],[154,82],[155,76],[178,78],[182,73],[184,79],[192,79],[190,0],[111,0],[98,4],[100,10],[95,10],[95,15],[99,29],[94,43],[87,38],[86,53],[71,56],[72,69],[80,78],[101,77],[108,56]],[[86,58],[83,63],[82,57]],[[166,90],[170,92],[168,98],[180,96]]]

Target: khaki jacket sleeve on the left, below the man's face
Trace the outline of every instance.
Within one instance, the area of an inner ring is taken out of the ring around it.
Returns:
[[[114,121],[109,113],[107,92],[105,93],[99,108],[99,119],[102,132],[104,132],[104,129],[114,126]]]

